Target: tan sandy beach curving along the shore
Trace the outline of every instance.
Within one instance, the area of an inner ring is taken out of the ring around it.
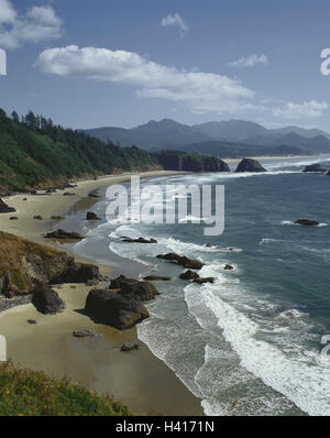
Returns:
[[[146,178],[178,173],[155,171],[134,175]],[[16,212],[0,215],[0,230],[69,252],[67,248],[59,248],[42,237],[54,226],[50,217],[65,215],[77,204],[81,209],[91,207],[97,198],[88,197],[89,193],[106,185],[128,182],[131,175],[133,174],[80,180],[77,182],[78,187],[50,195],[23,194],[3,198]],[[74,191],[77,196],[63,196],[65,191]],[[35,215],[42,215],[44,220],[33,219]],[[11,216],[16,216],[19,221],[9,220]],[[75,259],[84,261],[81,258]],[[111,273],[111,266],[98,266],[101,274]],[[103,284],[99,286],[103,287]],[[136,328],[120,332],[111,327],[96,325],[80,313],[90,288],[81,284],[55,288],[67,305],[66,310],[56,316],[38,314],[24,300],[22,305],[4,307],[0,313],[0,332],[7,337],[8,357],[13,363],[42,370],[55,377],[68,376],[74,383],[100,395],[111,395],[136,415],[205,415],[201,401],[138,339]],[[37,325],[28,325],[29,319],[35,319]],[[95,330],[98,336],[91,339],[72,336],[73,330],[85,328]],[[121,352],[120,348],[127,341],[138,342],[141,350]]]

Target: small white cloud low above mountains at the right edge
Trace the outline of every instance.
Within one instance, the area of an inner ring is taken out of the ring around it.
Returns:
[[[329,108],[327,102],[309,100],[302,103],[287,102],[283,108],[275,108],[273,114],[287,120],[315,119],[323,116]]]

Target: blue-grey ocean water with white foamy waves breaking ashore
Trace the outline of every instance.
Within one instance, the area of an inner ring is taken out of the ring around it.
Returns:
[[[195,174],[150,184],[223,184],[226,228],[205,237],[204,225],[108,222],[105,197],[81,219],[87,239],[73,250],[98,262],[134,261],[157,282],[151,318],[139,338],[201,399],[208,415],[330,415],[330,176],[302,174],[330,156],[263,161],[263,174]],[[299,218],[318,227],[295,226]],[[158,244],[124,243],[120,237],[155,238]],[[209,248],[212,243],[216,247]],[[178,280],[184,271],[156,259],[176,252],[206,263],[202,286]],[[226,263],[234,271],[223,271]],[[122,267],[122,269],[121,269]],[[142,274],[141,274],[142,275]]]

